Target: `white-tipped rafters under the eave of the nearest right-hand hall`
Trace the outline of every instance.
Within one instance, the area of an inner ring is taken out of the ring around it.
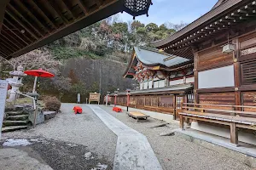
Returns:
[[[191,47],[193,44],[202,42],[206,38],[218,34],[220,31],[227,30],[231,26],[236,26],[238,23],[241,23],[245,20],[252,19],[256,16],[255,7],[256,1],[252,1],[251,3],[242,5],[240,8],[234,8],[230,12],[220,16],[217,20],[212,20],[212,22],[208,22],[208,24],[204,26],[198,26],[196,29],[189,31],[187,34],[184,34],[182,37],[174,39],[172,42],[167,42],[165,45],[162,45],[158,48],[162,48],[167,53],[171,52],[173,54],[175,50]],[[183,55],[180,56],[183,57]]]

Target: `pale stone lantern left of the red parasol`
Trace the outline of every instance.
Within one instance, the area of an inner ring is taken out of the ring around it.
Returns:
[[[8,78],[7,81],[9,82],[9,85],[12,86],[12,89],[10,91],[9,100],[15,100],[16,92],[19,92],[20,86],[23,84],[21,83],[22,78],[26,76],[24,73],[24,68],[22,65],[17,67],[17,71],[10,71],[9,75],[11,75],[13,78]]]

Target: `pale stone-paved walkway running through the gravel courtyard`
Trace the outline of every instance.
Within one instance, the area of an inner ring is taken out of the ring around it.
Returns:
[[[90,105],[102,122],[118,136],[113,170],[161,170],[148,139],[96,105]]]

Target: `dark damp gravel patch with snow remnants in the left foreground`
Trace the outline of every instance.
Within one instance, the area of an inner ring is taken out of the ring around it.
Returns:
[[[113,168],[111,162],[99,159],[99,156],[84,145],[40,138],[27,140],[32,144],[13,147],[28,152],[32,157],[40,156],[54,170],[110,170]]]

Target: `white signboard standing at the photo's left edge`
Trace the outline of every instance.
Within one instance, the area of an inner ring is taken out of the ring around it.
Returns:
[[[5,110],[5,101],[7,97],[7,88],[8,82],[5,80],[0,80],[0,139],[1,139],[1,132],[3,127],[3,116]]]

